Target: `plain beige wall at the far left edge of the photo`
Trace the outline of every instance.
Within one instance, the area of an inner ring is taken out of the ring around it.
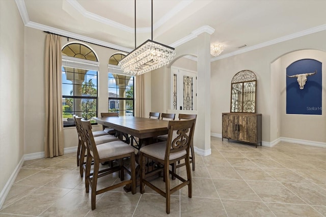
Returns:
[[[24,25],[15,1],[0,1],[0,47],[1,206],[4,187],[20,169],[24,150]]]

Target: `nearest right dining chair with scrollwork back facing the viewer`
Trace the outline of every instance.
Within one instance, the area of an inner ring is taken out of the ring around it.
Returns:
[[[140,193],[145,193],[145,185],[147,185],[158,194],[164,196],[166,198],[166,212],[168,214],[170,213],[171,194],[187,185],[188,197],[192,197],[192,175],[189,163],[189,149],[193,141],[195,121],[195,119],[182,121],[170,120],[168,126],[168,141],[146,145],[140,149]],[[162,164],[163,167],[157,167],[153,171],[145,173],[146,158]],[[185,161],[184,166],[186,167],[187,173],[186,179],[177,175],[173,170],[170,170],[171,164],[175,164],[177,161],[182,159]],[[150,182],[150,179],[148,179],[149,177],[153,176],[153,173],[161,170],[164,171],[163,180],[165,181],[165,191],[162,191],[156,187],[153,183]],[[170,174],[181,181],[180,184],[172,189],[170,188]]]

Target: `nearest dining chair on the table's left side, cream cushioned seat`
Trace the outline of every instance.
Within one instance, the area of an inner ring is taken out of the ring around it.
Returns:
[[[86,160],[86,174],[85,174],[85,185],[86,193],[89,193],[91,187],[91,205],[92,210],[96,208],[96,195],[122,187],[126,184],[131,184],[131,193],[136,193],[136,177],[135,177],[135,149],[130,145],[122,142],[121,140],[107,142],[96,145],[92,133],[92,125],[89,120],[82,119],[82,127],[84,136],[86,137],[85,143],[87,144],[87,160]],[[123,164],[123,159],[130,158],[130,171]],[[100,170],[100,163],[109,161],[118,161],[118,166],[110,167],[107,169]],[[91,165],[93,163],[93,173],[91,173]],[[123,170],[130,173],[130,179],[124,180]],[[112,174],[120,171],[119,183],[115,183],[103,189],[97,189],[98,178],[105,175]]]

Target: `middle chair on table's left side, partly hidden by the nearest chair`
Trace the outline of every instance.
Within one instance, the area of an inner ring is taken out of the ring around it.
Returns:
[[[77,154],[79,153],[79,156],[77,156],[77,158],[79,159],[79,173],[80,173],[80,177],[84,176],[84,171],[86,172],[86,162],[85,162],[85,157],[87,157],[86,154],[86,150],[87,150],[87,145],[85,144],[85,135],[83,132],[83,126],[82,126],[82,117],[78,117],[78,116],[74,116],[74,120],[76,123],[76,129],[77,129],[77,133],[78,133],[78,139],[80,142],[80,151],[77,152]],[[96,132],[96,131],[95,131]],[[94,132],[94,133],[95,133]],[[94,135],[93,135],[94,137]],[[119,139],[115,136],[112,135],[103,135],[103,136],[97,136],[94,137],[94,141],[95,144],[103,144],[106,142],[112,142],[112,141],[118,141]],[[78,143],[79,144],[79,143]]]

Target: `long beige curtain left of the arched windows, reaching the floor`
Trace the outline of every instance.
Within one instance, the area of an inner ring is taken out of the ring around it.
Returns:
[[[45,158],[63,155],[61,37],[48,34],[45,42]]]

